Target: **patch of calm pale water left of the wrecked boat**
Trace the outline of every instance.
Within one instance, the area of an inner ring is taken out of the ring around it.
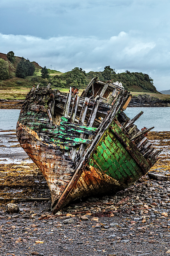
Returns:
[[[0,131],[16,129],[20,109],[0,109]]]

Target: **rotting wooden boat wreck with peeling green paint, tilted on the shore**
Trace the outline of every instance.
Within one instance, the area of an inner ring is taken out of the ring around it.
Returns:
[[[41,170],[53,213],[73,200],[128,188],[157,161],[146,134],[124,110],[132,96],[119,82],[93,78],[78,95],[47,87],[27,94],[16,127],[18,140]]]

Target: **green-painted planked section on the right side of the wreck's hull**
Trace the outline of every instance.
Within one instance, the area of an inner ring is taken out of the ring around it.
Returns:
[[[101,173],[107,174],[112,177],[116,184],[120,187],[128,187],[143,174],[141,166],[135,161],[132,155],[122,145],[115,133],[119,134],[127,147],[131,147],[130,140],[124,135],[116,123],[112,123],[112,128],[109,128],[102,140],[99,142],[92,158],[90,158],[89,165],[93,166]],[[135,152],[135,149],[133,148]],[[137,150],[136,150],[137,151]],[[147,161],[143,158],[142,154],[137,155],[139,162],[143,161],[150,169]]]

